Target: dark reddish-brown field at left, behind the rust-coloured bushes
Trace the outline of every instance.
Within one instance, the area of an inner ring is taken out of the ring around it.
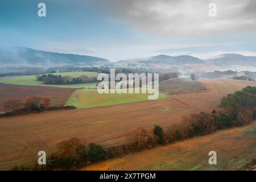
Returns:
[[[48,86],[22,86],[0,83],[0,113],[3,110],[3,102],[9,99],[22,99],[29,96],[48,97],[52,106],[64,105],[73,92],[73,88],[55,88]]]

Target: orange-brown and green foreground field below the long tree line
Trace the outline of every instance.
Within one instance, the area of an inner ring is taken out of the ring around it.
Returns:
[[[106,160],[82,170],[239,170],[256,158],[255,141],[256,121],[244,127]],[[217,152],[216,165],[209,165],[209,151]]]

